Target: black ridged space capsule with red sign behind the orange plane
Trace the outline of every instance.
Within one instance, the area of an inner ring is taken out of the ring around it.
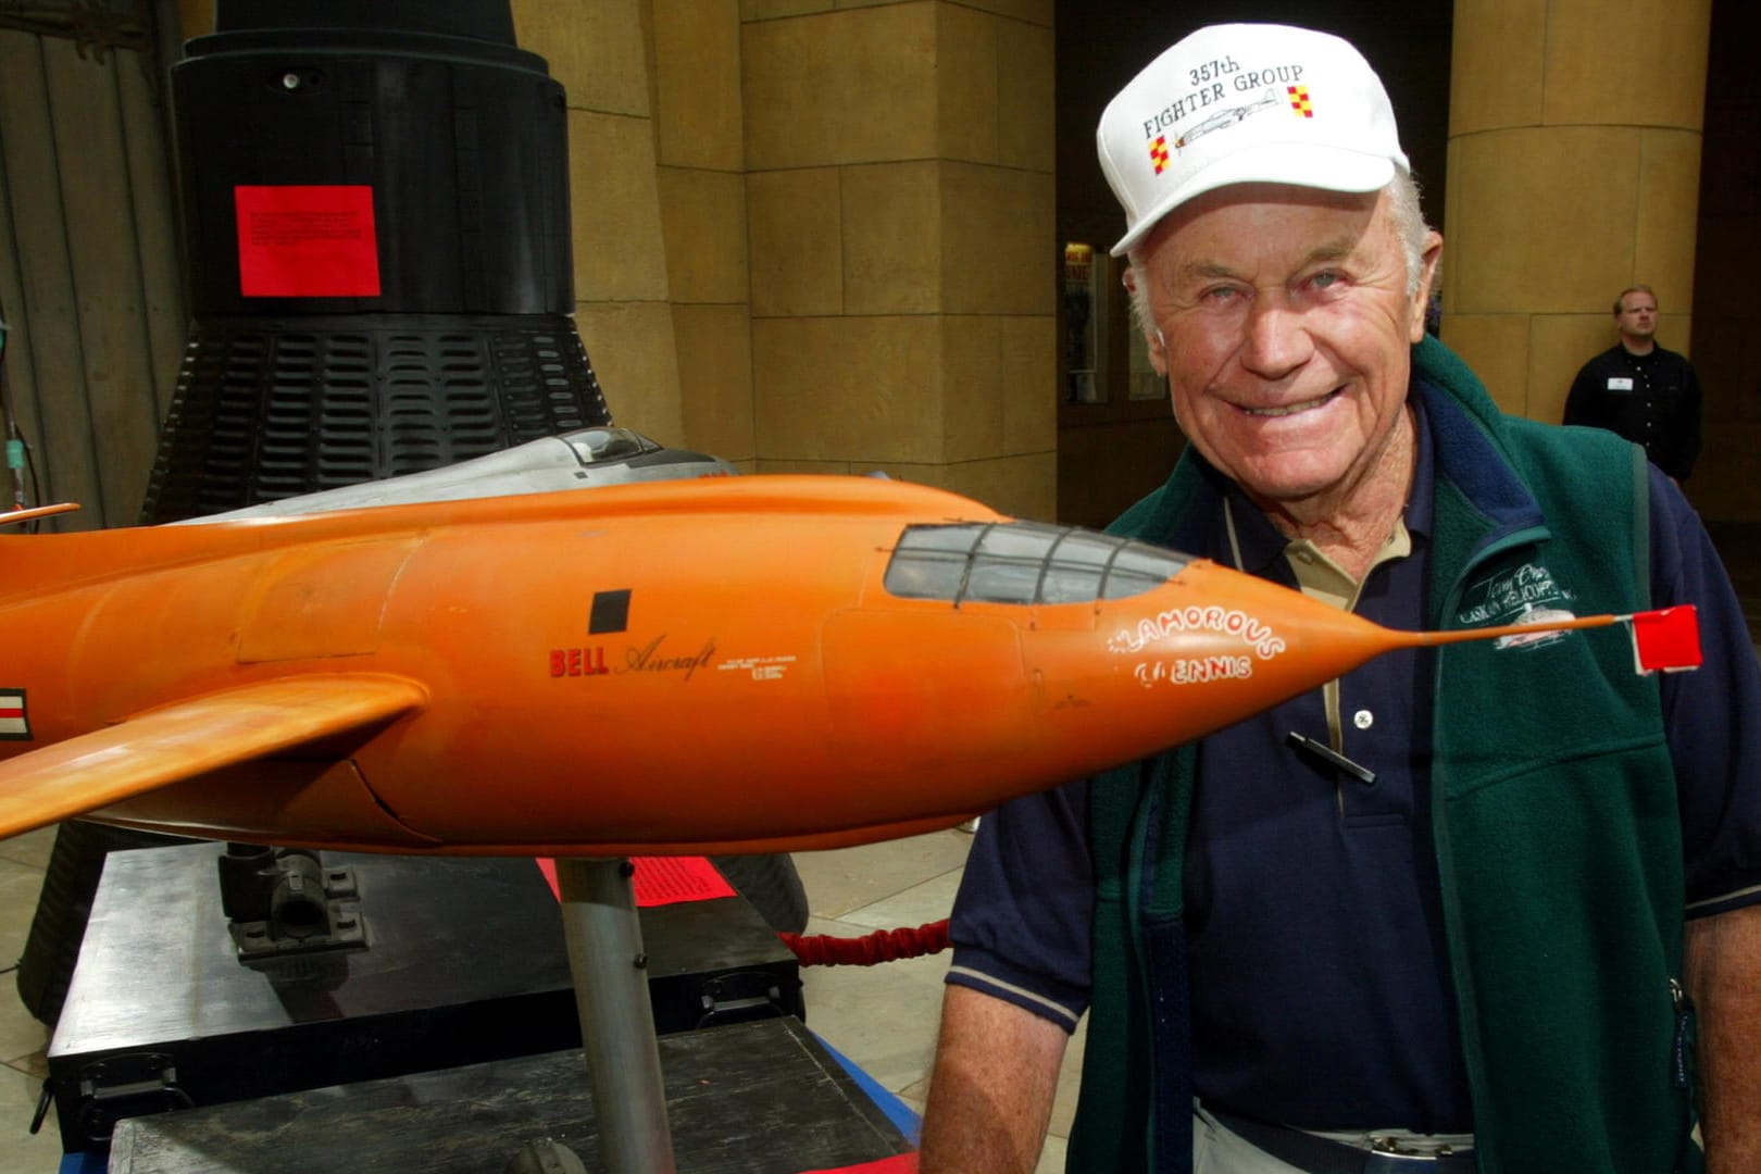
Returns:
[[[505,0],[218,0],[185,51],[190,340],[143,521],[609,422],[564,90]]]

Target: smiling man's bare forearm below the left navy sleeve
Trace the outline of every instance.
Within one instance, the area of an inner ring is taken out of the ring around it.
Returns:
[[[949,986],[919,1174],[1032,1174],[1069,1037],[1014,1003]]]

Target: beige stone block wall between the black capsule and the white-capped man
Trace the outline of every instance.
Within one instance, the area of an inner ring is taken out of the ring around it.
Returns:
[[[1055,512],[1051,0],[516,0],[618,422]]]

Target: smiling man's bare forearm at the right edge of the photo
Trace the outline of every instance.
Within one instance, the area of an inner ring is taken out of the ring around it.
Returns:
[[[1761,905],[1687,922],[1706,1174],[1761,1170]]]

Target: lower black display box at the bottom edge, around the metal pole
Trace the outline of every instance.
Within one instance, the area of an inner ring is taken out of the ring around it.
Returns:
[[[798,1174],[907,1153],[796,1019],[660,1038],[673,1153],[690,1174]],[[599,1165],[579,1051],[308,1090],[116,1126],[111,1174],[484,1174],[555,1139]]]

